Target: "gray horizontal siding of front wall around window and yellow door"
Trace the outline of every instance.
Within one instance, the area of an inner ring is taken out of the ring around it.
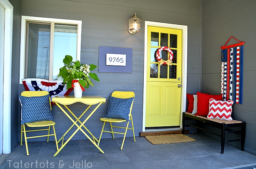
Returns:
[[[83,95],[100,95],[107,98],[106,104],[102,104],[88,122],[86,122],[86,127],[98,138],[103,125],[103,122],[99,118],[106,113],[108,97],[116,90],[134,91],[135,100],[132,114],[134,118],[135,136],[139,136],[139,132],[142,131],[145,20],[188,25],[187,91],[188,93],[199,91],[201,45],[200,9],[200,0],[22,0],[20,14],[82,20],[82,63],[98,65],[99,46],[132,48],[132,73],[99,73],[98,68],[96,68],[93,73],[98,75],[100,82],[93,80],[95,87],[90,86],[89,89],[83,92]],[[141,31],[131,35],[127,31],[128,18],[134,15],[134,13],[137,13],[137,16],[143,22],[141,22]],[[17,25],[16,29],[20,30],[19,25]],[[17,43],[18,48],[19,44],[20,42]],[[16,61],[13,61],[14,65],[17,66],[16,73],[18,75],[19,55],[15,57],[18,57]],[[17,75],[13,78],[19,79]],[[18,94],[24,91],[24,87],[19,84],[18,80],[15,83],[17,84],[16,89],[18,91],[16,91],[16,95],[13,95],[13,100],[15,100],[15,109],[17,111],[13,112],[13,114],[15,115],[17,124],[20,124]],[[70,95],[73,94],[72,91]],[[69,107],[76,115],[79,115],[86,106],[83,104],[74,104]],[[52,106],[52,111],[56,120],[57,137],[60,138],[72,123],[56,105]],[[106,127],[109,129],[109,125],[106,125]],[[20,125],[16,126],[15,132],[12,133],[16,143],[19,141],[19,132]],[[132,132],[128,131],[127,136],[132,136]],[[122,135],[117,134],[116,137],[122,137]],[[111,138],[111,134],[104,133],[102,138]],[[72,139],[87,138],[79,131]],[[36,138],[31,141],[33,140],[45,140],[45,138]]]

